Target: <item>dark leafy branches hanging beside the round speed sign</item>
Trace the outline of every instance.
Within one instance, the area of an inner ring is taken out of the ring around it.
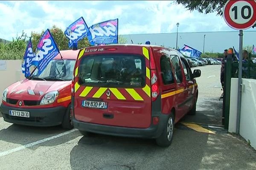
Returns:
[[[178,4],[182,4],[189,11],[198,11],[208,14],[217,12],[217,15],[223,15],[223,8],[227,0],[176,0]]]

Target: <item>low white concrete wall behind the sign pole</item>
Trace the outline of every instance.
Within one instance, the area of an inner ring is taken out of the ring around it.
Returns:
[[[236,132],[237,83],[231,79],[229,132]],[[239,133],[256,149],[256,79],[242,79],[242,84]]]

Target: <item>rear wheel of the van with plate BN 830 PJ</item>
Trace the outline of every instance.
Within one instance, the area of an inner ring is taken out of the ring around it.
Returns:
[[[168,116],[166,125],[161,136],[156,139],[157,145],[160,147],[168,147],[172,143],[172,136],[174,131],[174,115],[171,113]]]

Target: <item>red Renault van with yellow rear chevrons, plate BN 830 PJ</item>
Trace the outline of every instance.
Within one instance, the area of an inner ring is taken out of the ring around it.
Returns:
[[[154,138],[169,146],[174,125],[195,114],[198,86],[183,55],[154,45],[82,49],[72,82],[73,124],[82,134]]]

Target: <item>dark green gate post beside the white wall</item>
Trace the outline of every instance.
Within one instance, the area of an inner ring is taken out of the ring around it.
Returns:
[[[228,50],[227,62],[225,63],[224,96],[223,96],[223,111],[222,111],[225,129],[228,129],[228,124],[229,124],[232,57],[233,57],[233,51]]]

